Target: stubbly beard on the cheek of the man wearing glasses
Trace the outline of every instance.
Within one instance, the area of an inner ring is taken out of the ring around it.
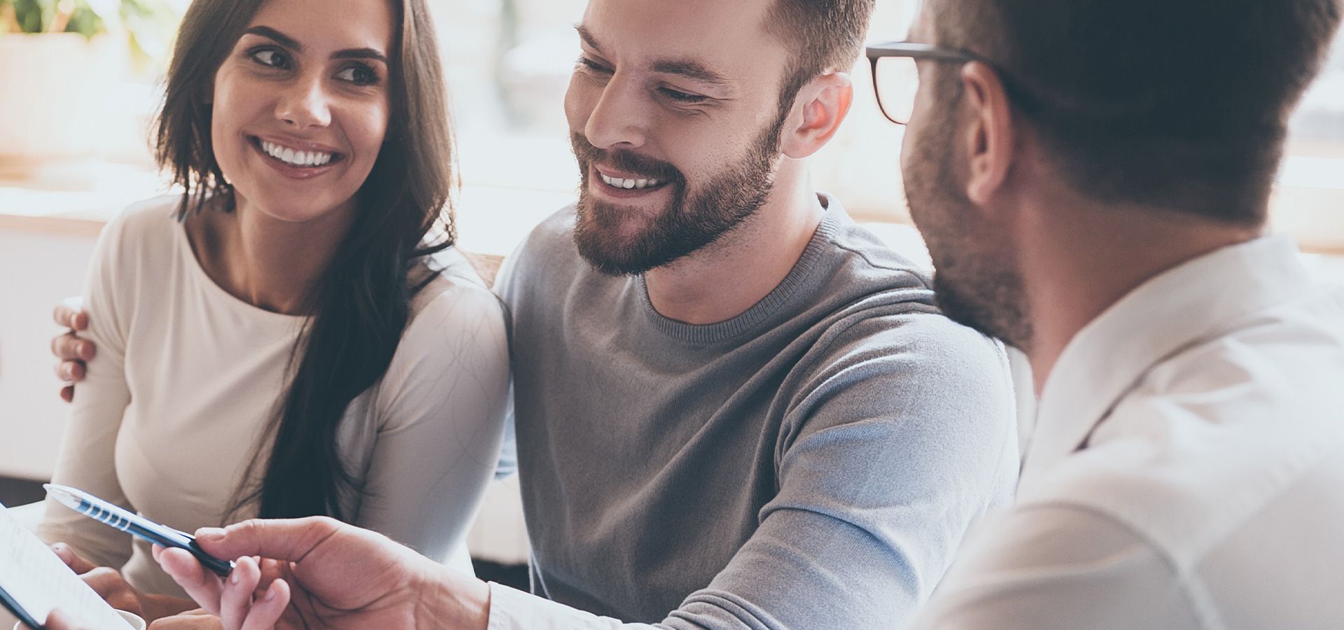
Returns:
[[[1016,262],[1004,236],[978,224],[976,206],[949,164],[956,142],[952,111],[948,106],[925,121],[933,133],[914,138],[914,156],[902,173],[910,218],[934,262],[938,308],[958,324],[1027,349],[1032,328]]]

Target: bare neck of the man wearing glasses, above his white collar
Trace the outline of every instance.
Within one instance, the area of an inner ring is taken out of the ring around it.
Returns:
[[[1140,285],[1195,258],[1245,243],[1263,227],[1220,226],[1148,208],[1030,212],[1019,234],[1032,320],[1025,348],[1040,395],[1068,343]],[[1142,333],[1137,330],[1136,333]]]

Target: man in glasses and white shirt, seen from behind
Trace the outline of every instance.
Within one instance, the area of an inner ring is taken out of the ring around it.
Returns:
[[[930,0],[868,48],[943,312],[1028,355],[919,629],[1344,627],[1344,291],[1265,235],[1336,0]]]

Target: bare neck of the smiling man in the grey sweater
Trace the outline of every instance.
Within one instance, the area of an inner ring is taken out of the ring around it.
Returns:
[[[786,161],[755,215],[712,246],[645,274],[649,301],[685,324],[731,320],[784,282],[824,214],[802,164]]]

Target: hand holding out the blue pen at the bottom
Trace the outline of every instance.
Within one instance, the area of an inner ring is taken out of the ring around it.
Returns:
[[[155,557],[228,630],[277,623],[478,630],[489,618],[484,582],[332,519],[250,520],[200,529],[196,541],[218,557],[237,557],[238,567],[220,579],[183,549],[155,548]]]

